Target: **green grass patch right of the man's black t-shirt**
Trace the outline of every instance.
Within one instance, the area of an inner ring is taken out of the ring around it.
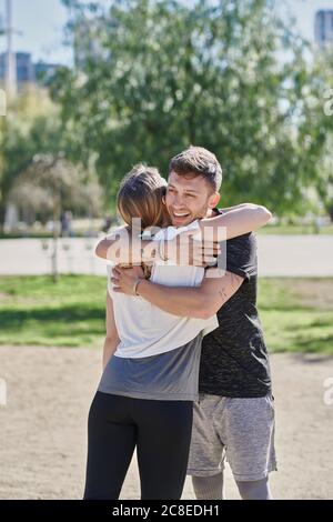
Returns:
[[[333,355],[333,279],[262,279],[259,309],[270,351]]]

